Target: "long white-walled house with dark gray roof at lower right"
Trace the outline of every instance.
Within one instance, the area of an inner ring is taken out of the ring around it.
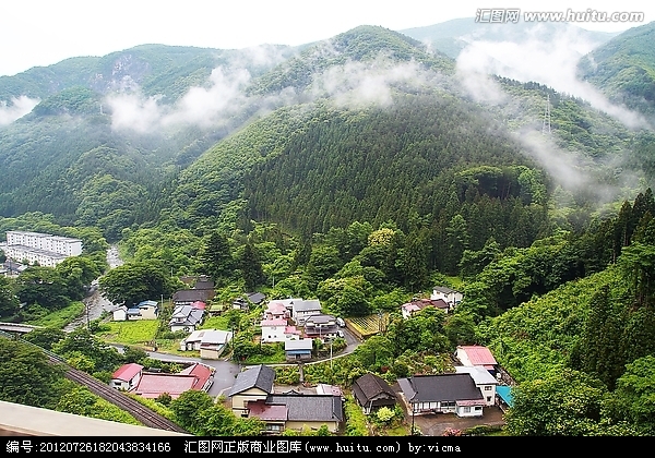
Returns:
[[[398,378],[398,385],[413,415],[455,413],[481,417],[483,394],[469,374],[415,375]]]

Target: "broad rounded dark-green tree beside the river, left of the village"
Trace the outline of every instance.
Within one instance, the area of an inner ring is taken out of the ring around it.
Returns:
[[[141,301],[170,297],[177,282],[156,263],[126,263],[98,280],[100,293],[115,304],[131,306]]]

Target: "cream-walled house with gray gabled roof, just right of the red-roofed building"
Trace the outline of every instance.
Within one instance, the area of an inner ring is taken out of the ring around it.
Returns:
[[[273,394],[275,371],[267,365],[260,364],[240,372],[227,396],[231,399],[231,409],[235,415],[247,418],[248,403],[265,400]]]

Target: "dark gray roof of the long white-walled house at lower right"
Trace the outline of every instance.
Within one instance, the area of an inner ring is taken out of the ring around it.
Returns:
[[[410,402],[484,399],[469,374],[417,375],[398,385]]]

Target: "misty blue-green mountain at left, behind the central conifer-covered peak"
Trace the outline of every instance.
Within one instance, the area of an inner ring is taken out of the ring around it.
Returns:
[[[0,77],[4,107],[31,108],[0,129],[0,215],[51,213],[64,224],[100,225],[111,239],[152,219],[163,183],[249,116],[243,110],[203,123],[198,118],[207,111],[184,111],[184,97],[211,95],[230,77],[214,69],[251,77],[296,52],[265,51],[261,59],[146,45]]]

